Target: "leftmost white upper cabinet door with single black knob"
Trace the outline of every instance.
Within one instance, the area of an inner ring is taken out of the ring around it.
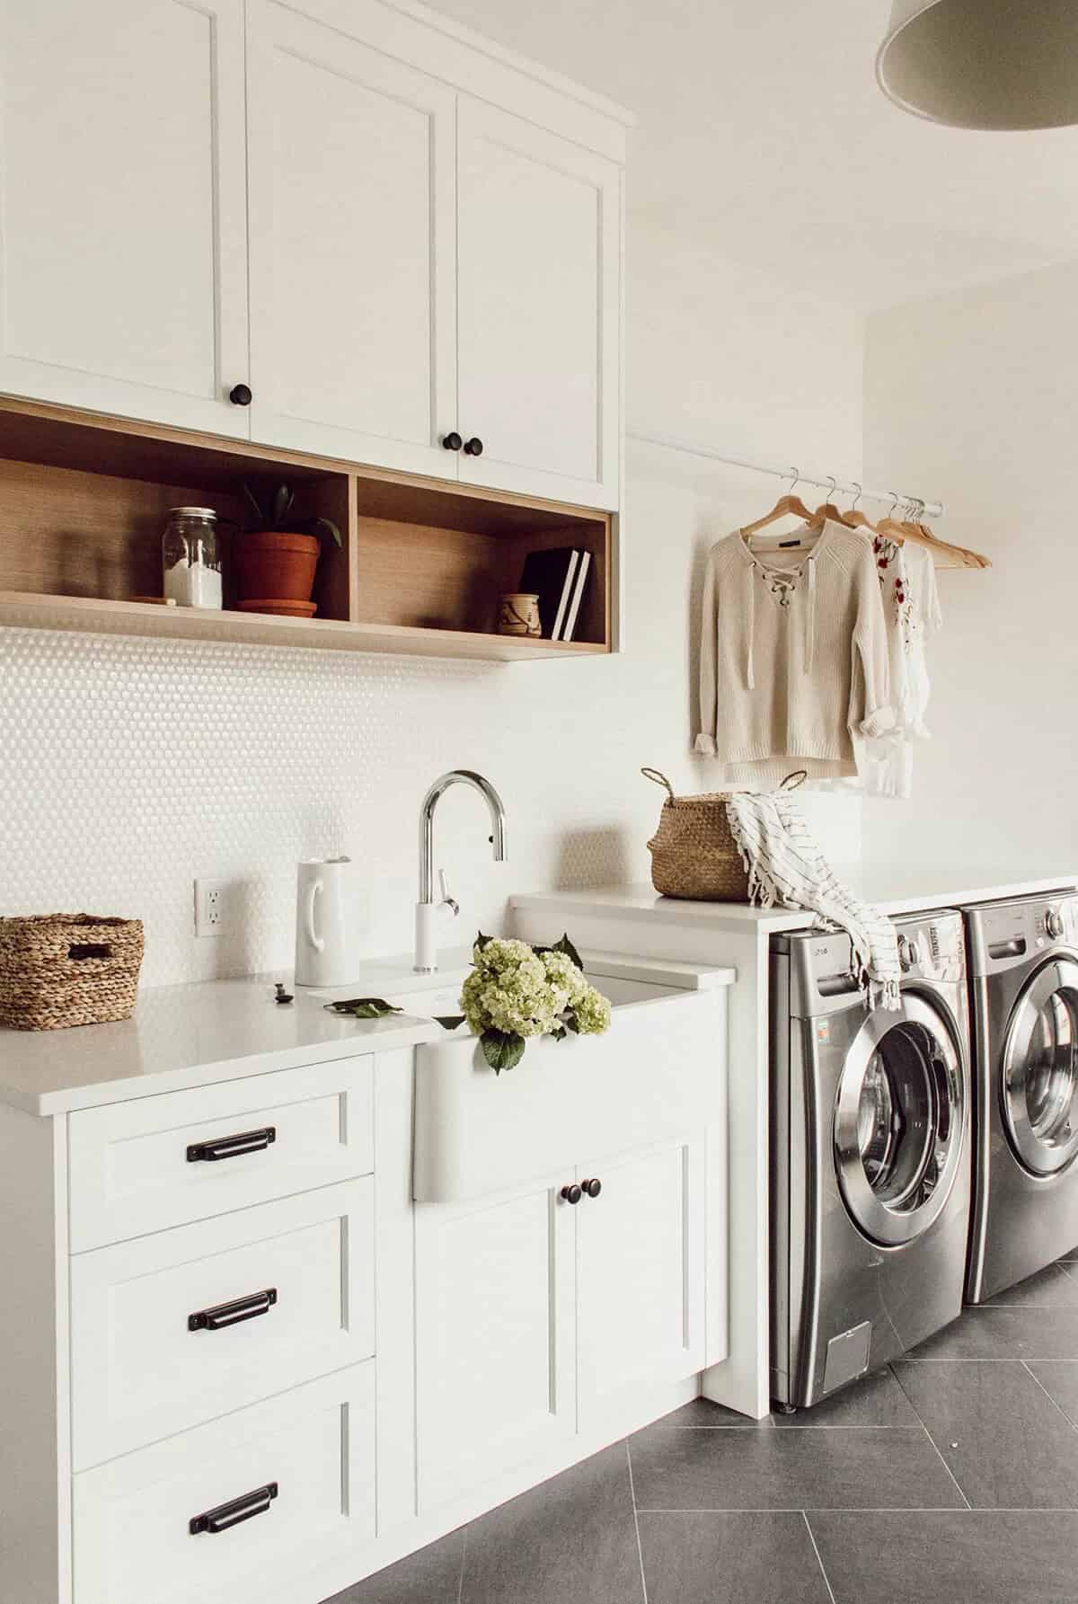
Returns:
[[[0,0],[0,388],[247,435],[242,0]]]

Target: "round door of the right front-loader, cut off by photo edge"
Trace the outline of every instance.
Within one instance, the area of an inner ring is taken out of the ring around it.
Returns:
[[[1078,964],[1057,959],[1030,980],[1003,1054],[1003,1113],[1019,1160],[1054,1176],[1078,1155]]]

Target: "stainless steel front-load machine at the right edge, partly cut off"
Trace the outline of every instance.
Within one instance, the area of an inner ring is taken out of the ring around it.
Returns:
[[[966,1296],[983,1302],[1078,1245],[1078,895],[966,913],[974,1208]]]

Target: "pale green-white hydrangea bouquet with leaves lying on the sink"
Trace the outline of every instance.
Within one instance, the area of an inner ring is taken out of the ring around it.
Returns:
[[[529,946],[480,932],[460,1007],[496,1075],[520,1063],[533,1036],[563,1041],[569,1031],[600,1036],[610,1030],[610,1003],[584,978],[568,935],[553,946]]]

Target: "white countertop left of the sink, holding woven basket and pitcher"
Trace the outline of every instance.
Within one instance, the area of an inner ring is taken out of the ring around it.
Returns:
[[[438,980],[449,985],[465,972],[467,962]],[[278,978],[294,991],[292,1003],[274,1001]],[[358,1020],[326,1012],[332,998],[399,996],[411,978],[393,966],[369,966],[355,986],[337,991],[294,988],[287,975],[148,986],[133,1015],[116,1025],[0,1028],[0,1102],[27,1113],[64,1113],[435,1041],[441,1025],[430,1019]],[[430,988],[430,975],[414,983]]]

